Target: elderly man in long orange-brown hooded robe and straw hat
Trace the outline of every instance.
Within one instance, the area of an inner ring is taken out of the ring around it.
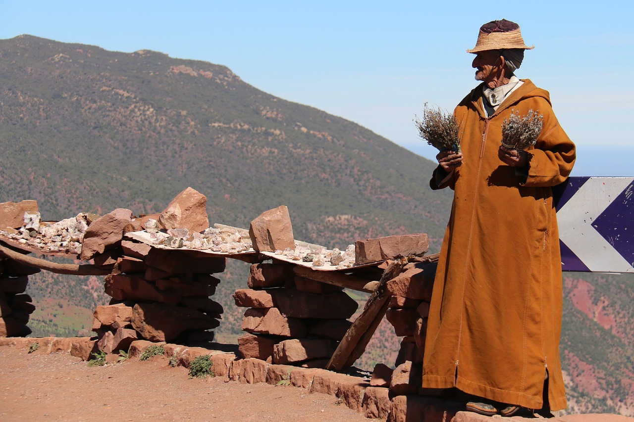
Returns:
[[[552,186],[574,144],[547,91],[517,79],[524,44],[507,20],[480,29],[475,87],[455,109],[461,151],[439,153],[432,189],[455,191],[434,283],[423,387],[456,387],[467,409],[511,416],[566,407],[559,361],[562,269]],[[536,144],[501,146],[511,113],[543,115]]]

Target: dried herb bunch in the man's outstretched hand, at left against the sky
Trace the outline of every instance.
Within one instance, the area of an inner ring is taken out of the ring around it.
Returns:
[[[418,135],[428,144],[442,151],[460,151],[460,126],[453,114],[425,103],[423,118],[414,119]]]

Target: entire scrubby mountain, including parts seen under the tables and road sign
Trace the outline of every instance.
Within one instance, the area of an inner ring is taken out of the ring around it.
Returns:
[[[0,157],[0,201],[37,200],[49,220],[119,207],[151,214],[191,186],[207,196],[210,222],[248,227],[287,205],[299,240],[345,248],[423,232],[437,252],[451,207],[448,189],[427,186],[434,163],[224,66],[30,35],[0,40]],[[221,274],[221,341],[240,333],[231,293],[247,271],[230,260]],[[634,277],[564,278],[569,411],[633,415]],[[107,300],[101,290],[98,278],[32,276],[34,333],[86,333]],[[358,366],[394,362],[398,342],[382,324]]]

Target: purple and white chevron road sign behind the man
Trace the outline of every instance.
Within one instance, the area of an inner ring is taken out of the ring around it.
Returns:
[[[634,272],[634,177],[569,177],[553,196],[564,271]]]

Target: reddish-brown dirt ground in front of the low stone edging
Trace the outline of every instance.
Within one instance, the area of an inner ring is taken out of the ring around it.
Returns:
[[[189,378],[168,359],[89,367],[68,353],[0,347],[1,421],[363,421],[337,399],[296,387]]]

